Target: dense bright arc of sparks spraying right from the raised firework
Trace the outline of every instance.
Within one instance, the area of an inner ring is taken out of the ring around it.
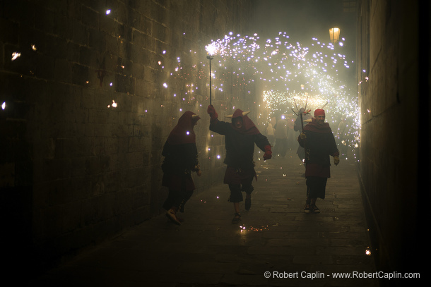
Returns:
[[[223,92],[229,77],[232,85],[246,87],[254,81],[264,88],[262,100],[269,111],[261,116],[259,124],[265,125],[277,114],[294,116],[294,111],[305,107],[324,107],[336,138],[343,137],[342,145],[356,149],[359,146],[359,104],[352,78],[346,78],[353,61],[341,52],[343,47],[326,44],[313,38],[310,47],[292,42],[285,32],[274,39],[226,35],[206,46],[214,56],[214,88]],[[365,71],[363,71],[365,73]],[[233,77],[232,77],[233,76]],[[367,80],[367,78],[365,78]],[[236,82],[235,82],[236,80]],[[338,133],[338,123],[344,118],[347,130]]]

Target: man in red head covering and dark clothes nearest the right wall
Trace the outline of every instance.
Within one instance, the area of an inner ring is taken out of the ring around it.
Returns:
[[[320,212],[316,206],[316,200],[318,197],[325,199],[326,181],[331,177],[329,156],[333,157],[333,164],[337,165],[340,162],[338,158],[340,153],[332,130],[329,123],[324,121],[325,111],[317,109],[314,111],[311,123],[308,123],[298,136],[300,146],[305,147],[305,178],[307,178],[305,213]]]

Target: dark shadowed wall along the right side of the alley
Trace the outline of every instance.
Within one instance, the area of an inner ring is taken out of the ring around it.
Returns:
[[[420,9],[417,1],[359,1],[360,175],[379,271],[419,271],[429,218],[430,169],[420,161],[429,159],[430,73],[419,51],[429,54],[430,11]]]

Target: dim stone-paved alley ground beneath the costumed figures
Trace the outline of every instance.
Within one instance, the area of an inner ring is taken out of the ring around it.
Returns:
[[[293,150],[257,161],[240,224],[220,184],[191,197],[181,226],[161,214],[28,286],[379,286],[364,278],[376,270],[355,161],[331,166],[320,214],[303,211],[304,171]]]

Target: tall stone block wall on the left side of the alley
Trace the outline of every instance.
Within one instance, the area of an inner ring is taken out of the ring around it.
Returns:
[[[0,8],[2,218],[22,223],[8,221],[11,242],[45,264],[160,214],[161,151],[187,110],[202,118],[196,192],[221,183],[224,141],[208,130],[205,45],[247,32],[249,0]],[[253,105],[240,87],[225,87],[214,95],[220,116]]]

